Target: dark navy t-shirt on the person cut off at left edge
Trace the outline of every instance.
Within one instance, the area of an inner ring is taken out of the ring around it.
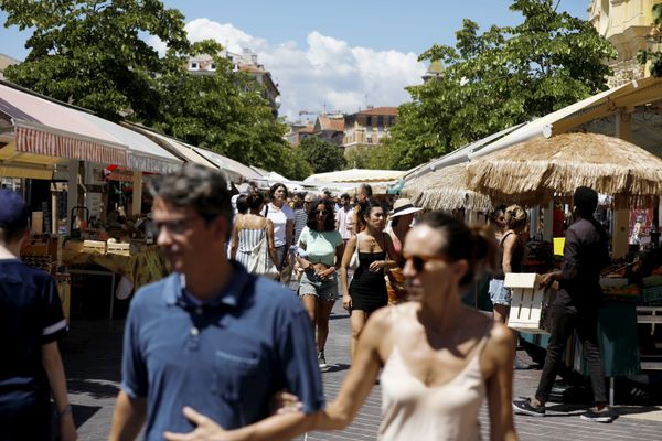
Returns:
[[[49,400],[41,347],[66,331],[53,277],[18,259],[0,260],[0,415]]]

